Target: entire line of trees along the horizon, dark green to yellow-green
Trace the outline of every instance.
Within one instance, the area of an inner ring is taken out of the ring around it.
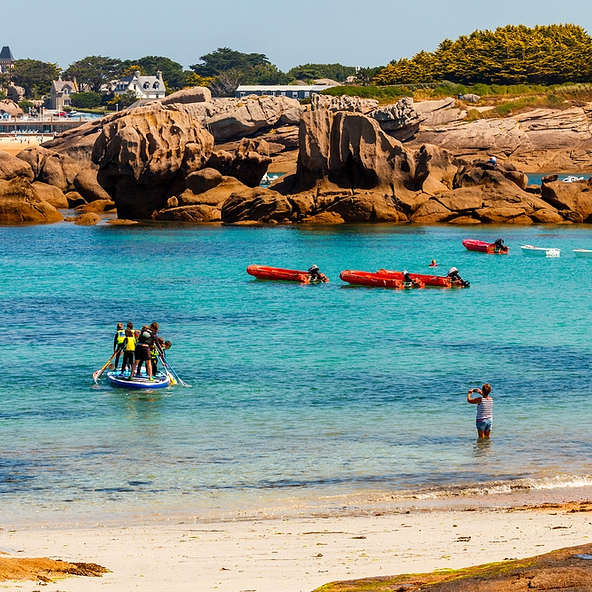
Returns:
[[[208,86],[214,96],[232,96],[240,84],[297,84],[329,78],[358,85],[356,90],[347,89],[348,94],[389,100],[412,94],[422,85],[434,89],[443,83],[469,87],[592,82],[592,38],[577,25],[508,25],[495,31],[474,31],[456,41],[445,39],[434,52],[420,51],[410,59],[393,60],[385,67],[302,64],[287,72],[272,64],[265,54],[243,53],[228,47],[201,56],[189,69],[162,56],[128,60],[87,56],[65,70],[57,64],[22,59],[16,61],[12,71],[0,75],[0,98],[2,89],[10,82],[24,87],[27,98],[47,96],[51,81],[62,75],[64,79],[76,78],[80,88],[87,91],[79,93],[84,96],[76,97],[73,105],[92,107],[105,101],[119,101],[123,106],[135,97],[106,98],[105,85],[136,70],[144,75],[160,70],[167,92]],[[388,90],[377,90],[387,86]]]

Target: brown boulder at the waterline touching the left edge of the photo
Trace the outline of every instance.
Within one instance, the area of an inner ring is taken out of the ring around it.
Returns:
[[[22,177],[0,180],[0,224],[47,224],[63,216]]]

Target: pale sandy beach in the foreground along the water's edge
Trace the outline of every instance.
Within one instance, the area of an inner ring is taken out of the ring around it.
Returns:
[[[161,517],[21,527],[4,520],[0,550],[95,562],[111,571],[49,583],[47,590],[308,592],[334,580],[455,569],[585,544],[589,510],[584,504],[495,507],[474,498],[457,508],[403,506],[267,520]],[[38,586],[2,584],[25,592]]]

